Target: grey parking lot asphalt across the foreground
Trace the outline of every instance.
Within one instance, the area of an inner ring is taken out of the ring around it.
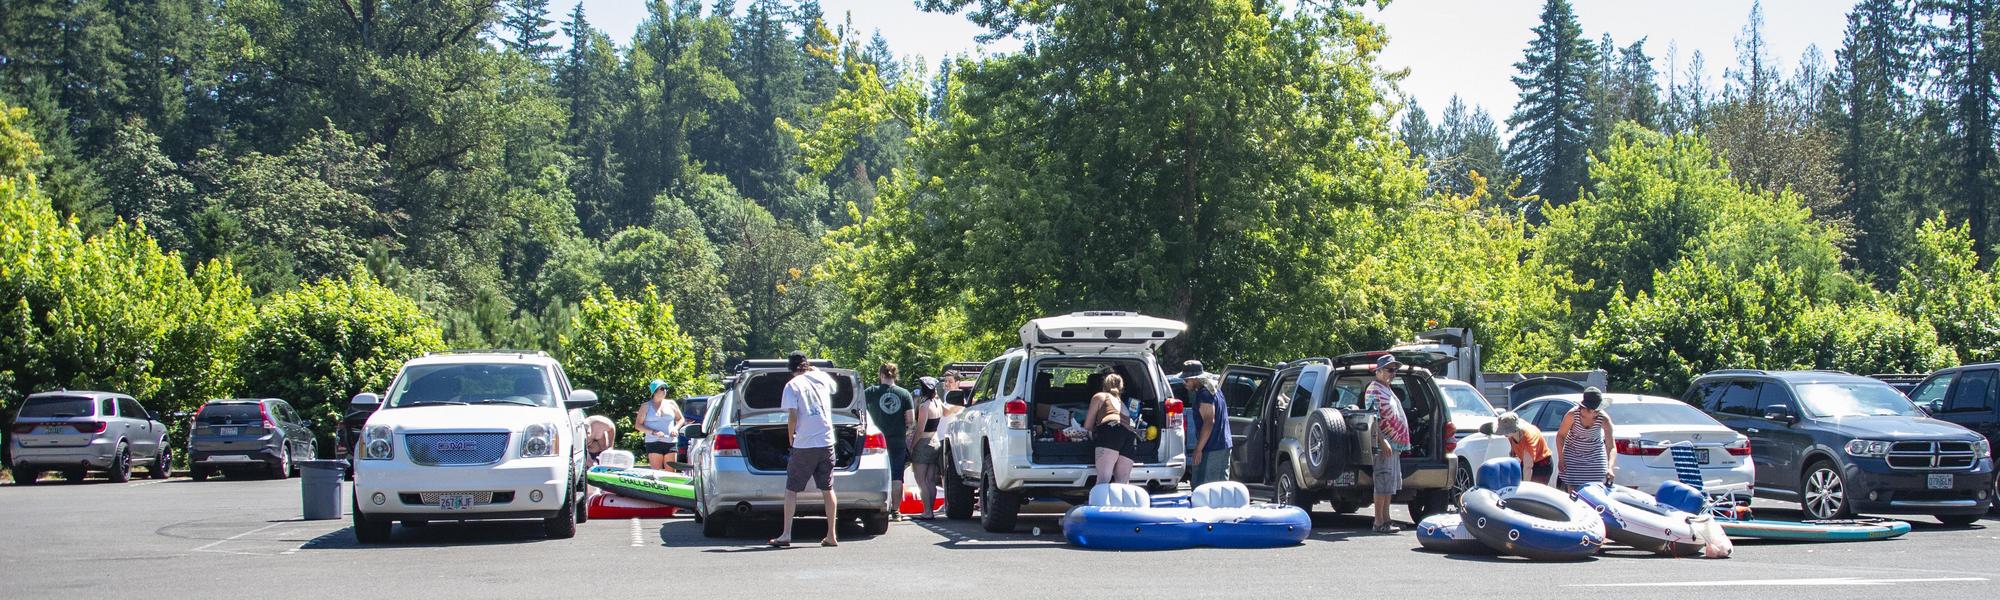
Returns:
[[[840,548],[764,548],[774,522],[710,540],[686,518],[592,520],[572,540],[546,540],[534,522],[440,522],[398,526],[392,544],[360,546],[348,520],[300,520],[298,486],[186,478],[0,486],[0,590],[8,598],[1972,598],[2000,590],[1996,518],[1970,528],[1912,518],[1914,532],[1886,542],[1740,540],[1728,560],[1610,550],[1572,564],[1422,552],[1410,532],[1368,532],[1366,508],[1316,514],[1312,538],[1276,550],[1080,550],[1062,542],[1052,512],[1024,516],[1014,534],[988,534],[978,522],[896,522],[884,536],[846,534]],[[1778,504],[1758,510],[1798,518]],[[1396,518],[1408,526],[1402,510]],[[802,542],[822,534],[820,520],[796,530]]]

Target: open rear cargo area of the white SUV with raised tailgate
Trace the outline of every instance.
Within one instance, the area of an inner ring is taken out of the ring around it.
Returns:
[[[1028,410],[1034,422],[1028,434],[1034,440],[1028,448],[1032,464],[1096,464],[1096,448],[1090,438],[1070,436],[1076,428],[1092,430],[1082,422],[1090,412],[1090,396],[1104,388],[1104,376],[1124,378],[1126,402],[1138,402],[1138,460],[1156,462],[1160,456],[1158,428],[1166,426],[1160,408],[1162,390],[1156,388],[1146,362],[1138,358],[1062,358],[1050,356],[1036,362],[1034,388],[1028,390]],[[1152,432],[1148,436],[1148,432]]]

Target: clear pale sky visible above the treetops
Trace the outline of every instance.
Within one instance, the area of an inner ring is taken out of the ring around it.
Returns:
[[[632,30],[646,18],[646,2],[582,0],[592,24],[610,32],[620,44],[632,40]],[[738,6],[748,0],[738,0]],[[1750,0],[1574,0],[1584,36],[1592,42],[1610,32],[1618,46],[1646,38],[1654,68],[1684,74],[1694,52],[1708,66],[1710,90],[1720,90],[1722,70],[1736,64],[1736,36],[1750,18]],[[568,14],[570,2],[556,0],[552,8]],[[866,38],[880,28],[890,48],[900,56],[920,54],[926,62],[960,52],[1008,52],[1018,48],[980,48],[980,34],[962,16],[916,10],[912,0],[820,0],[828,18],[838,24],[852,14],[854,28]],[[1768,0],[1764,2],[1764,38],[1782,72],[1798,66],[1800,52],[1818,44],[1832,62],[1846,28],[1854,0]],[[1374,12],[1374,10],[1370,10]],[[1388,26],[1390,44],[1382,52],[1384,68],[1410,68],[1402,82],[1404,94],[1424,104],[1432,114],[1444,108],[1452,94],[1486,106],[1496,120],[1514,110],[1512,76],[1522,48],[1534,38],[1542,16],[1540,0],[1398,0],[1374,12]],[[1678,64],[1668,64],[1668,48],[1678,50]]]

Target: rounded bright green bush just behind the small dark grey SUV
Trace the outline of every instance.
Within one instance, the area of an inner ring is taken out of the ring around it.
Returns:
[[[404,360],[444,350],[438,322],[366,270],[272,296],[236,364],[238,396],[284,398],[328,442],[348,398],[386,392]]]

